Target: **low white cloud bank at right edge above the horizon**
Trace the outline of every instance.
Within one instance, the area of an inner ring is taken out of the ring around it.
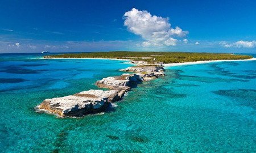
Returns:
[[[227,42],[220,42],[220,45],[224,46],[225,48],[254,48],[256,46],[256,41],[237,41],[233,44],[228,44]]]

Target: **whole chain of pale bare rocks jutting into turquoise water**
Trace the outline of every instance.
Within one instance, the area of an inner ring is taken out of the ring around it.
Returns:
[[[38,106],[38,110],[56,114],[59,117],[79,117],[103,112],[109,104],[121,100],[125,93],[137,87],[137,84],[164,75],[164,68],[159,63],[149,65],[142,61],[131,62],[138,65],[121,71],[133,72],[132,74],[110,76],[95,83],[96,86],[109,90],[88,90],[74,95],[46,99]]]

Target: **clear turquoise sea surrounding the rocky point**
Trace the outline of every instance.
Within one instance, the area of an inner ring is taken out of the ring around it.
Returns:
[[[166,67],[108,112],[57,118],[34,108],[130,65],[38,57],[0,56],[0,152],[256,151],[256,61]]]

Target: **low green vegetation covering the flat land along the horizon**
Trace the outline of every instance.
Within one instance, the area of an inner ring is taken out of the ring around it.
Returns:
[[[150,58],[149,58],[150,57]],[[149,63],[180,63],[221,59],[249,59],[251,56],[222,54],[222,53],[186,53],[186,52],[94,52],[94,53],[73,53],[56,54],[44,56],[44,58],[118,58],[134,59]],[[155,60],[154,60],[155,59]]]

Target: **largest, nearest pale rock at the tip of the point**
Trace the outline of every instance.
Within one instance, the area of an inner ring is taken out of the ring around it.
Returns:
[[[109,103],[120,100],[125,90],[89,90],[75,95],[55,97],[44,100],[39,106],[40,111],[65,116],[83,116],[84,114],[104,111]]]

